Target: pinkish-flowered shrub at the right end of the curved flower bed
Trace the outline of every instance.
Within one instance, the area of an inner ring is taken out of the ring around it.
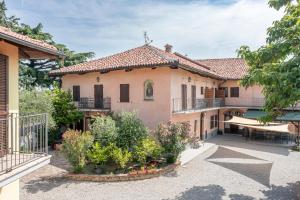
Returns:
[[[159,142],[164,148],[168,163],[174,163],[180,153],[185,149],[185,140],[188,137],[188,126],[182,123],[160,124],[155,131]]]

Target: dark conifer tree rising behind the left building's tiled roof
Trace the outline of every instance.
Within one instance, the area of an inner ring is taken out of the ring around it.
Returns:
[[[49,87],[55,77],[49,77],[48,72],[52,69],[58,69],[63,66],[71,66],[87,61],[94,57],[93,52],[77,53],[71,51],[64,44],[58,44],[54,41],[50,33],[43,31],[43,25],[37,24],[35,27],[19,23],[20,18],[16,16],[7,16],[7,7],[4,1],[0,1],[0,26],[10,28],[11,30],[27,35],[33,39],[45,41],[56,46],[64,55],[64,61],[58,60],[21,60],[20,61],[20,86],[21,88],[31,89],[33,87]]]

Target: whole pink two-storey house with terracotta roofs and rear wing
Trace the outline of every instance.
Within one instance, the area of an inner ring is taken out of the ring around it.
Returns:
[[[150,129],[188,121],[191,134],[205,140],[218,131],[239,132],[224,120],[263,105],[260,87],[239,85],[247,69],[238,58],[192,60],[171,45],[143,45],[50,74],[62,77],[62,88],[84,111],[84,129],[93,115],[137,111]]]

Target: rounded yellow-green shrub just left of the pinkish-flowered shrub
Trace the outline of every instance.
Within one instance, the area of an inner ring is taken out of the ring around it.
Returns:
[[[134,148],[134,158],[142,166],[150,159],[158,159],[161,156],[161,146],[152,138],[143,139]]]

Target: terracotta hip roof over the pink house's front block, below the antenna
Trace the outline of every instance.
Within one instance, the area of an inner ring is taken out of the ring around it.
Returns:
[[[178,64],[179,67],[193,70],[203,75],[221,78],[214,70],[199,64],[178,53],[169,53],[151,45],[143,45],[128,51],[114,54],[108,57],[92,60],[78,65],[63,67],[53,70],[51,75],[63,75],[68,73],[86,73],[95,71],[109,71],[116,69],[143,68],[147,66],[158,66],[167,64]]]

